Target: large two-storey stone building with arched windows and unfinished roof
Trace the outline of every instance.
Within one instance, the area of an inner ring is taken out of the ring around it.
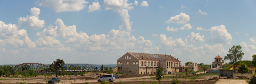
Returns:
[[[181,61],[171,55],[127,52],[117,59],[118,72],[153,74],[163,67],[163,73],[179,72]]]

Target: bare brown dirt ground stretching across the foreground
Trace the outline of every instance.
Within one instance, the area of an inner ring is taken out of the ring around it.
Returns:
[[[90,84],[100,84],[97,82],[97,78],[99,75],[91,75],[91,74],[101,74],[105,75],[106,73],[86,73],[85,76],[58,76],[57,78],[61,79],[61,83],[59,84],[70,84],[70,83],[77,83],[77,84],[84,84],[85,82],[89,82]],[[169,77],[168,77],[169,76]],[[215,84],[217,82],[217,79],[212,78],[219,78],[218,75],[211,75],[211,76],[205,76],[199,74],[197,75],[190,75],[189,77],[196,77],[196,81],[198,82],[190,82],[190,79],[184,79],[182,78],[183,75],[165,75],[165,78],[162,78],[161,84],[170,84],[170,81],[172,80],[172,77],[175,76],[177,80],[180,80],[180,83],[183,84]],[[245,77],[249,78],[251,74],[244,74]],[[47,80],[54,78],[55,75],[52,76],[36,76],[36,77],[27,77],[24,79],[24,82],[27,84],[46,84]],[[118,84],[118,82],[121,80],[125,82],[126,84],[140,84],[141,82],[146,82],[149,84],[153,80],[155,80],[155,75],[132,75],[132,74],[123,74],[120,75],[120,79],[116,79],[114,82],[110,82],[111,84]],[[240,78],[241,74],[234,74],[234,78]],[[22,82],[23,78],[12,78],[12,77],[0,77],[2,80],[0,80],[0,84],[17,84],[19,82]],[[210,79],[211,78],[211,79]],[[232,77],[220,77],[221,79],[217,82],[217,84],[233,84],[233,83],[239,83],[243,84],[246,83],[246,80],[240,80],[241,82],[237,82],[237,79],[234,79]],[[230,79],[232,78],[232,79]]]

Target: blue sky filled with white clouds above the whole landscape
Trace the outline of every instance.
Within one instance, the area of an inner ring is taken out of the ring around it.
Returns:
[[[0,0],[0,64],[117,64],[126,52],[212,64],[256,54],[255,0]]]

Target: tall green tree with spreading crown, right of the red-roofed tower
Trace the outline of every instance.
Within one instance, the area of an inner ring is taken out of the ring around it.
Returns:
[[[235,63],[237,61],[241,61],[241,59],[244,56],[244,52],[241,49],[242,49],[242,47],[240,45],[233,45],[232,48],[228,49],[229,54],[227,54],[227,56],[224,56],[224,60],[230,60],[231,62],[234,63],[234,66],[235,66]],[[234,69],[235,69],[235,67],[234,67]],[[234,70],[234,72],[235,72],[235,70]]]

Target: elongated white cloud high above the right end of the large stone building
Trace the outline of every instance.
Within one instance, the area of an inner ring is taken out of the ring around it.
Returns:
[[[180,13],[179,15],[175,15],[171,17],[169,20],[165,21],[165,23],[181,23],[185,24],[187,21],[189,21],[189,15],[185,13]]]

